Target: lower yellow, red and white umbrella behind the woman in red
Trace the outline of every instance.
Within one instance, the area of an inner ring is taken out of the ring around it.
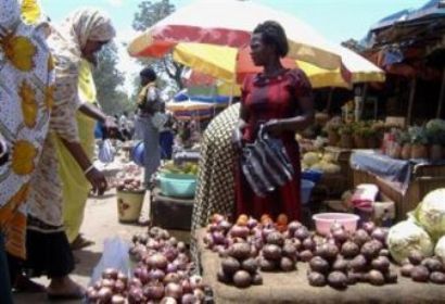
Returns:
[[[356,83],[384,81],[384,72],[367,59],[344,47],[339,46],[334,49],[342,56],[347,76],[341,68],[326,69],[304,61],[284,59],[282,64],[290,68],[295,66],[302,68],[314,88],[349,88],[351,84]],[[260,68],[253,64],[247,49],[237,53],[227,47],[181,43],[174,50],[174,60],[226,81],[237,77],[238,84],[242,83],[245,75],[260,72]]]

